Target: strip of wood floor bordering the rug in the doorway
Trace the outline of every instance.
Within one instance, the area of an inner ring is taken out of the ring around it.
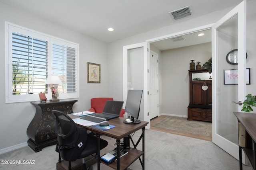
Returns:
[[[156,123],[158,123],[159,121],[161,121],[165,117],[168,117],[168,116],[167,115],[160,115],[158,117],[155,117],[154,119],[151,119],[150,129],[154,130],[154,131],[161,131],[161,132],[165,132],[165,133],[172,133],[172,134],[175,134],[175,135],[181,135],[181,136],[192,137],[192,138],[196,138],[196,139],[202,139],[202,140],[205,140],[205,141],[212,141],[212,137],[208,137],[208,136],[196,135],[196,134],[191,134],[191,133],[186,133],[186,132],[164,129],[164,128],[160,128],[160,127],[154,127],[154,125]]]

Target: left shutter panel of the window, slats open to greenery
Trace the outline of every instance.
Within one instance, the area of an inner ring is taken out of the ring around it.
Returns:
[[[12,94],[46,91],[48,42],[12,32]]]

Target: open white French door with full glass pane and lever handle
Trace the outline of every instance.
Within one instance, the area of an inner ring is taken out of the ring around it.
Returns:
[[[212,26],[212,142],[236,159],[238,122],[233,112],[241,111],[241,106],[232,102],[244,101],[246,96],[245,31],[246,1]],[[234,49],[239,49],[237,65],[226,61]]]

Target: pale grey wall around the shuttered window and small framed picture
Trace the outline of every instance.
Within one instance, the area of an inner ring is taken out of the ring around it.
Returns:
[[[5,44],[4,21],[14,23],[48,35],[66,39],[80,44],[80,98],[74,104],[73,111],[83,111],[90,108],[90,98],[108,96],[108,62],[107,45],[85,35],[70,31],[54,23],[30,16],[26,12],[10,8],[0,3],[0,79],[5,80]],[[87,83],[87,62],[101,64],[101,83]],[[122,80],[121,80],[122,82]],[[30,102],[5,104],[5,84],[0,84],[0,150],[21,143],[26,143],[27,127],[35,115],[35,107]],[[121,86],[122,87],[122,86]],[[108,97],[112,97],[111,95]],[[39,97],[38,97],[39,100]]]

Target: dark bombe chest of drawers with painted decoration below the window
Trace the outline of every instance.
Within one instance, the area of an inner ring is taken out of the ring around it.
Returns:
[[[35,152],[44,147],[57,143],[55,132],[56,122],[53,109],[63,111],[67,114],[73,113],[72,107],[78,100],[60,100],[59,102],[30,102],[36,107],[36,114],[28,125],[28,146]]]

